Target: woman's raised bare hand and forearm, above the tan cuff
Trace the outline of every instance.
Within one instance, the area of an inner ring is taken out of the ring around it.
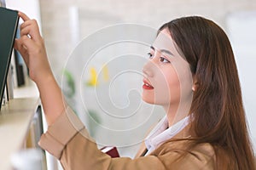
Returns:
[[[45,118],[51,125],[65,109],[61,88],[50,70],[37,21],[21,12],[19,16],[24,23],[20,26],[20,38],[15,40],[15,48],[25,60],[30,77],[37,83]]]

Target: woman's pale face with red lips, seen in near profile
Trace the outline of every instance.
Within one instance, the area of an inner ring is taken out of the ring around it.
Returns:
[[[143,100],[167,107],[187,103],[192,95],[189,63],[177,52],[167,29],[160,31],[148,57],[143,67]]]

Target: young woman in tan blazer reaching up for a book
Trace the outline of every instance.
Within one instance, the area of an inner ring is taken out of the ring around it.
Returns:
[[[37,22],[19,15],[24,23],[15,48],[38,85],[49,124],[39,144],[64,169],[255,169],[234,54],[211,20],[185,17],[160,27],[143,67],[143,100],[163,105],[166,117],[130,159],[97,149],[62,100]]]

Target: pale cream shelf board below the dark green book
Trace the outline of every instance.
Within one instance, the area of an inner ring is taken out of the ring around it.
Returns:
[[[10,170],[12,154],[22,149],[26,141],[39,98],[11,99],[0,112],[0,169]]]

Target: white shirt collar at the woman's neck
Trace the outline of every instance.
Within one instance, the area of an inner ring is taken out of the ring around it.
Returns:
[[[148,149],[146,156],[167,139],[172,139],[173,136],[182,131],[188,124],[189,116],[186,116],[181,121],[172,125],[172,127],[168,127],[168,119],[164,116],[145,139],[145,144]]]

